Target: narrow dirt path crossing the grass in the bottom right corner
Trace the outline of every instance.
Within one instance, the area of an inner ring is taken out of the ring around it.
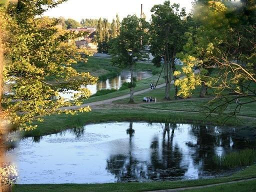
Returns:
[[[164,189],[164,190],[150,190],[150,191],[145,191],[145,192],[177,192],[177,191],[182,191],[182,190],[200,189],[200,188],[206,188],[206,187],[211,187],[211,186],[218,186],[218,185],[222,185],[222,184],[232,184],[232,183],[238,183],[238,182],[244,182],[244,181],[250,181],[250,180],[256,180],[256,178],[234,180],[234,181],[221,182],[221,183],[216,183],[216,184],[207,184],[207,185],[202,185],[202,186],[191,186],[191,187]]]

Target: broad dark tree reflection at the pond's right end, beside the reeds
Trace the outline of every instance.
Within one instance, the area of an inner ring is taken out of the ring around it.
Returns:
[[[247,141],[246,146],[244,138],[236,131],[231,131],[230,128],[223,130],[210,125],[192,125],[190,133],[196,136],[196,143],[187,142],[186,145],[194,151],[191,155],[194,163],[200,163],[203,170],[218,169],[212,163],[215,155],[255,145],[254,141]]]

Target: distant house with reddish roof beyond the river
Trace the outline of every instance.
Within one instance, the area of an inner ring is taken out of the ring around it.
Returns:
[[[80,37],[80,38],[77,38],[75,40],[75,45],[77,47],[90,47],[92,49],[96,49],[96,45],[94,45],[92,42],[93,42],[93,38],[94,38],[94,35],[96,34],[96,27],[82,27],[82,28],[69,28],[68,30],[71,30],[71,31],[86,31],[88,32],[87,35],[83,36],[83,37]]]

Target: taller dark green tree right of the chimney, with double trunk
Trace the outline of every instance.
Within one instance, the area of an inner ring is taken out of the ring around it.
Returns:
[[[179,4],[170,5],[169,1],[154,5],[151,8],[152,22],[150,24],[150,51],[155,56],[155,64],[160,59],[164,60],[165,96],[169,100],[169,89],[172,72],[175,70],[174,59],[176,53],[182,49],[184,44],[185,16],[184,8],[179,11]],[[174,80],[176,76],[173,76]],[[177,87],[175,89],[175,98]]]

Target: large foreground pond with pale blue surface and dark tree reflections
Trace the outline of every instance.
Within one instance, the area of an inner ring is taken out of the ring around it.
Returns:
[[[256,146],[255,132],[217,126],[112,122],[20,140],[17,183],[104,183],[215,177],[214,155]],[[254,135],[253,135],[254,134]]]

